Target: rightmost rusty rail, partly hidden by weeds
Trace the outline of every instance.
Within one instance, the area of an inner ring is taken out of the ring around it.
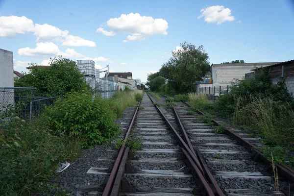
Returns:
[[[191,107],[191,105],[189,103],[187,103],[185,101],[182,101],[182,102],[185,105],[187,105],[188,107]],[[197,109],[196,109],[196,112],[203,115],[203,116],[206,116],[203,112],[201,112]],[[220,125],[220,123],[218,123],[215,120],[212,120],[212,122],[215,125]],[[236,141],[241,143],[242,146],[246,147],[251,153],[254,154],[254,157],[253,157],[254,161],[257,161],[257,159],[260,159],[266,164],[271,164],[271,162],[269,161],[270,159],[266,155],[264,155],[262,152],[260,152],[255,145],[248,142],[244,138],[240,137],[237,133],[234,133],[233,131],[229,130],[227,127],[225,127],[225,131],[226,131],[227,135],[234,138]],[[288,166],[286,166],[284,164],[276,164],[276,167],[277,167],[278,173],[280,173],[282,176],[286,177],[288,180],[293,182],[293,184],[290,187],[290,191],[291,191],[291,194],[294,195],[294,170],[292,170],[291,168],[289,168]]]

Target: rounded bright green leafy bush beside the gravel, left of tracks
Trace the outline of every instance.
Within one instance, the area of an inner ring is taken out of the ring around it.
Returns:
[[[53,134],[78,138],[84,148],[109,141],[119,130],[107,102],[85,91],[59,98],[43,117]]]

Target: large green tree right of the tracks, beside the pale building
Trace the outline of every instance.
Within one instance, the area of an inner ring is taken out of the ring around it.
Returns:
[[[169,79],[177,93],[192,92],[194,83],[210,70],[208,55],[203,46],[182,43],[181,49],[172,51],[172,57],[162,65],[159,75]]]

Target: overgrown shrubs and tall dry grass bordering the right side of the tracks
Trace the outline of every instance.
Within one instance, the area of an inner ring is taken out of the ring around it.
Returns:
[[[268,157],[272,153],[275,163],[285,163],[281,157],[294,148],[294,100],[284,79],[273,84],[269,68],[261,68],[255,78],[236,80],[230,89],[215,103],[205,95],[188,94],[192,109],[217,113],[234,124],[245,125],[250,134],[262,138],[267,145],[262,151]],[[222,133],[223,127],[215,131]],[[288,161],[286,164],[293,167],[294,158]]]

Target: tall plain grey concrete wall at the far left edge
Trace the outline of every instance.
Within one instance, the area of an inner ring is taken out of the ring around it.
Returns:
[[[13,52],[0,49],[0,87],[14,87]],[[14,90],[0,88],[0,108],[14,105]]]

